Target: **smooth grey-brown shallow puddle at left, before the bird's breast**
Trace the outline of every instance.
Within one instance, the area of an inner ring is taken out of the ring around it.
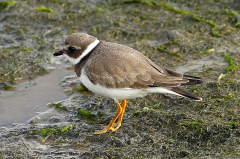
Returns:
[[[1,91],[0,126],[26,123],[36,114],[50,109],[48,103],[66,99],[67,95],[59,83],[65,76],[73,74],[71,70],[56,69],[44,76],[18,83],[14,91]]]

